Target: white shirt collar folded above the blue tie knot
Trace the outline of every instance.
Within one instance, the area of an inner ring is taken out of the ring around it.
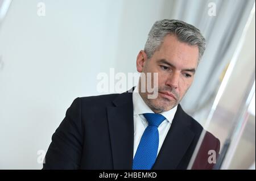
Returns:
[[[133,115],[141,115],[143,113],[154,113],[142,99],[141,95],[138,92],[137,87],[138,86],[136,86],[133,91]],[[172,120],[174,119],[176,111],[177,106],[175,106],[169,111],[161,112],[160,114],[166,117],[166,119],[171,123]]]

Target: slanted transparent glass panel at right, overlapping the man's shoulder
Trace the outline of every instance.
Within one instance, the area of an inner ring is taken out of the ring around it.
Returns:
[[[198,159],[216,162],[214,169],[249,169],[255,164],[255,111],[253,115],[249,109],[251,102],[255,107],[254,94],[255,6],[204,125],[220,140],[220,155],[216,153],[216,157],[213,157],[215,153],[205,150],[207,134],[204,132],[188,169],[195,168]],[[202,157],[202,153],[208,154],[208,157]]]

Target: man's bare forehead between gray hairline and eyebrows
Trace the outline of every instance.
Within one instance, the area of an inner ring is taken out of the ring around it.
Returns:
[[[154,59],[165,59],[177,68],[196,68],[199,58],[199,48],[180,42],[174,35],[164,37],[159,50],[153,55]]]

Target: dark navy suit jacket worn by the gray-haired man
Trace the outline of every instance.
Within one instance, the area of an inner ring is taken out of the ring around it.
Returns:
[[[152,169],[187,169],[203,127],[180,104]],[[132,169],[132,92],[77,98],[52,136],[43,169]],[[208,150],[220,141],[206,132],[193,169],[212,169]]]

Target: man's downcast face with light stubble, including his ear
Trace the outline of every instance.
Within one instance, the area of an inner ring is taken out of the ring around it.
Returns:
[[[199,49],[195,45],[181,43],[174,35],[164,37],[159,50],[148,59],[141,50],[137,57],[137,70],[141,73],[158,73],[158,96],[148,99],[148,91],[141,92],[144,102],[155,113],[174,108],[191,86],[199,59]],[[153,75],[151,75],[153,77]],[[151,85],[153,85],[153,79]],[[141,78],[139,80],[141,85]],[[143,85],[142,85],[143,86]]]

